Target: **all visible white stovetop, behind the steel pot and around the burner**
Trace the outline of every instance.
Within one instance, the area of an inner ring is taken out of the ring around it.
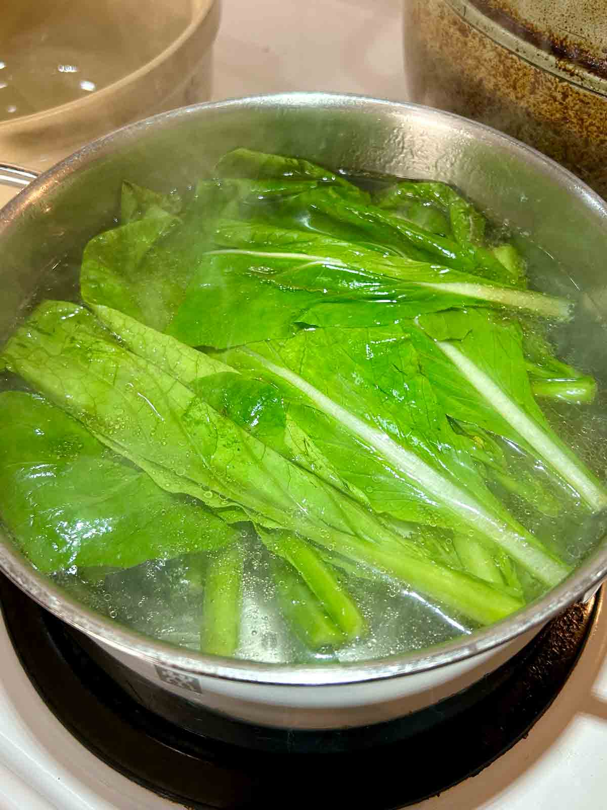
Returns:
[[[400,6],[400,0],[223,0],[214,98],[333,90],[405,100]],[[605,652],[607,610],[528,738],[478,777],[418,808],[607,806]],[[71,737],[23,675],[2,625],[0,662],[0,810],[175,810]]]

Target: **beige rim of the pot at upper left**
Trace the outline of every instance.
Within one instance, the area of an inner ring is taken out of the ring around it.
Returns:
[[[185,42],[191,39],[193,34],[197,32],[197,29],[204,23],[216,2],[219,2],[219,0],[200,0],[199,10],[194,11],[192,19],[190,19],[180,35],[172,40],[160,53],[157,53],[154,58],[138,67],[137,70],[132,70],[125,76],[122,76],[121,79],[117,79],[117,81],[105,87],[101,87],[100,90],[96,90],[96,92],[91,93],[90,96],[83,96],[73,101],[66,101],[65,104],[57,104],[54,107],[42,109],[38,113],[30,113],[29,115],[22,115],[2,121],[0,122],[0,137],[19,135],[21,130],[27,130],[30,125],[45,126],[45,124],[48,124],[50,121],[56,120],[57,117],[63,118],[64,116],[70,115],[74,110],[78,112],[84,110],[86,112],[87,108],[94,107],[96,104],[103,104],[104,100],[110,98],[112,94],[121,92],[125,87],[129,87],[130,84],[137,83],[139,79],[142,79],[152,70],[155,70],[155,68],[162,65],[163,62],[167,62],[174,53],[183,47]],[[90,112],[92,112],[92,110]]]

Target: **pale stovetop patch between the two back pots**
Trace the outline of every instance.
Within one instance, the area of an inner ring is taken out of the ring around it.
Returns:
[[[214,98],[290,90],[405,100],[401,0],[224,0]]]

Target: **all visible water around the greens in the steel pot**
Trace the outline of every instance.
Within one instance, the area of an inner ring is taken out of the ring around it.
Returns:
[[[564,268],[533,243],[516,236],[517,246],[529,262],[532,286],[579,299],[579,290]],[[76,300],[79,266],[65,262],[49,270],[40,286],[39,299]],[[597,313],[596,313],[597,314]],[[592,373],[598,394],[594,403],[584,406],[550,405],[544,411],[557,433],[584,458],[593,471],[607,478],[607,366],[605,326],[591,317],[588,308],[579,308],[574,322],[554,325],[550,337],[558,356]],[[25,387],[12,376],[0,380],[0,390]],[[538,467],[537,474],[542,475]],[[587,556],[604,534],[601,523],[580,523],[575,503],[558,518],[546,518],[516,501],[507,503],[511,511],[546,544],[552,544],[565,561],[576,564]],[[246,530],[244,530],[246,532]],[[387,578],[373,582],[346,575],[346,587],[363,612],[367,637],[339,650],[312,653],[300,643],[282,618],[278,606],[270,559],[264,546],[249,532],[244,537],[248,561],[244,571],[242,625],[238,657],[269,663],[309,663],[312,661],[356,661],[383,658],[422,650],[448,642],[475,626],[450,611],[444,612],[420,595]],[[57,584],[96,611],[146,635],[191,650],[200,649],[200,628],[206,556],[188,554],[168,561],[148,561],[132,569],[76,569],[58,574]],[[362,572],[359,572],[362,573]]]

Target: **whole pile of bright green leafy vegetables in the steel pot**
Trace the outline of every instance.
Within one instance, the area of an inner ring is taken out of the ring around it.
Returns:
[[[237,149],[184,198],[125,182],[120,222],[90,309],[43,302],[0,356],[46,398],[0,394],[0,511],[41,570],[230,656],[266,566],[304,658],[355,654],[374,593],[469,632],[567,576],[557,523],[607,492],[536,398],[596,382],[550,343],[573,301],[458,190]]]

